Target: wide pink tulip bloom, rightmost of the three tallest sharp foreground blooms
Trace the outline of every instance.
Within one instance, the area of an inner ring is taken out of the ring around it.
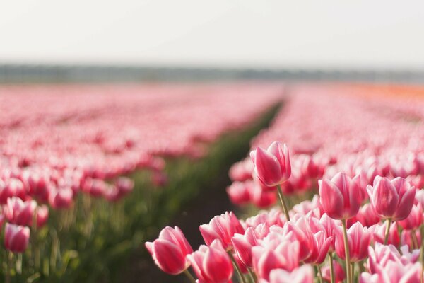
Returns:
[[[377,176],[373,186],[367,186],[372,207],[382,219],[406,219],[412,209],[416,189],[404,178],[389,180]]]

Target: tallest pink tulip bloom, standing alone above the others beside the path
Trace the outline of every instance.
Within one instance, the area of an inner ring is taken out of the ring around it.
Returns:
[[[285,144],[274,141],[266,150],[258,147],[251,151],[250,157],[253,161],[254,171],[264,185],[275,187],[290,177],[290,156]]]

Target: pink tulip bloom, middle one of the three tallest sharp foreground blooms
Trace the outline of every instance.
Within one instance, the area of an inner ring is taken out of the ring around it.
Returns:
[[[331,180],[319,180],[322,209],[333,219],[349,219],[358,213],[360,188],[356,178],[337,173]]]

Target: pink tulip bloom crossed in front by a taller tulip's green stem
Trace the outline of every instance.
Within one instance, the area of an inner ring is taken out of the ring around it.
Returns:
[[[368,246],[370,245],[371,233],[364,228],[360,222],[356,222],[348,229],[348,247],[351,255],[351,262],[358,262],[367,258]],[[339,258],[345,259],[345,249],[343,244],[343,231],[341,228],[336,232],[336,254]]]

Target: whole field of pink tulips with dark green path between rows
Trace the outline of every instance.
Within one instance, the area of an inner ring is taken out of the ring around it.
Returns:
[[[0,85],[0,205],[0,282],[424,283],[424,88]]]

